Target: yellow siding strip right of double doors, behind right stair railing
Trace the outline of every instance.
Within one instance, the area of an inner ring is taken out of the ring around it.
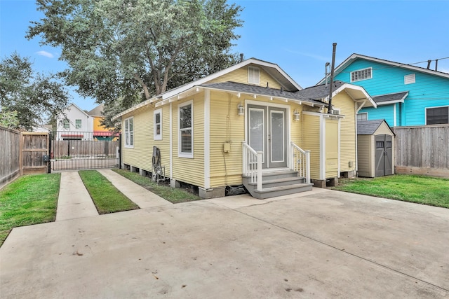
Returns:
[[[311,179],[320,178],[320,116],[302,115],[304,126],[303,149],[310,151]]]

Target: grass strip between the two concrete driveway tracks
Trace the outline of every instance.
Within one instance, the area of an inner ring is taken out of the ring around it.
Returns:
[[[139,209],[137,204],[123,195],[100,172],[96,170],[80,170],[78,173],[88,193],[91,195],[99,214]]]

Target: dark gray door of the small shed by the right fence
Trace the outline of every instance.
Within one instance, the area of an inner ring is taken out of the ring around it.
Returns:
[[[390,135],[375,136],[375,176],[393,174],[393,148]]]

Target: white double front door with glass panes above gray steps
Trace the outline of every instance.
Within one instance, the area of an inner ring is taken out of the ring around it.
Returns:
[[[248,104],[248,144],[263,152],[263,168],[287,167],[286,108]]]

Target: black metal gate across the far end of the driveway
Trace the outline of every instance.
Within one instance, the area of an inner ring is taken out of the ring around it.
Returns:
[[[120,135],[95,137],[93,132],[53,132],[51,171],[119,167]]]

